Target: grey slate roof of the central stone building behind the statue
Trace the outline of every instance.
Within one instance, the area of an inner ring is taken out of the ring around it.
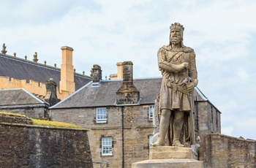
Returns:
[[[101,80],[99,85],[89,83],[50,109],[116,105],[116,91],[122,82],[122,80]],[[140,91],[140,104],[154,104],[161,82],[161,77],[133,80],[135,87]]]

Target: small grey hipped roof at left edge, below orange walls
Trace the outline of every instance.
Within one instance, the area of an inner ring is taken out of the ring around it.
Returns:
[[[0,90],[0,107],[16,106],[27,104],[48,104],[37,96],[29,93],[24,88],[1,89]]]

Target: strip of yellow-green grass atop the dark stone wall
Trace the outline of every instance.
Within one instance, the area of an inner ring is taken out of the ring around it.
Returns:
[[[26,117],[26,115],[20,115],[13,112],[0,112],[0,115],[12,116],[12,117],[23,117],[23,118]],[[29,118],[29,119],[31,119],[33,125],[35,126],[53,126],[57,128],[83,129],[82,127],[76,126],[75,124],[72,124],[72,123],[62,123],[58,121],[45,121],[45,120],[39,120],[34,118]]]

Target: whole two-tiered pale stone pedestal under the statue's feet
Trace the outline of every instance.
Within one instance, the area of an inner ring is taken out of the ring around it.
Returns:
[[[132,164],[132,168],[203,168],[203,161],[197,161],[191,148],[173,146],[152,147],[149,160]]]

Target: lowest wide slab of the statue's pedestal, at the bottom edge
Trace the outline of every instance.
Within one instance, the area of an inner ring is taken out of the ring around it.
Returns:
[[[132,164],[132,168],[203,168],[203,161],[195,159],[150,159]]]

